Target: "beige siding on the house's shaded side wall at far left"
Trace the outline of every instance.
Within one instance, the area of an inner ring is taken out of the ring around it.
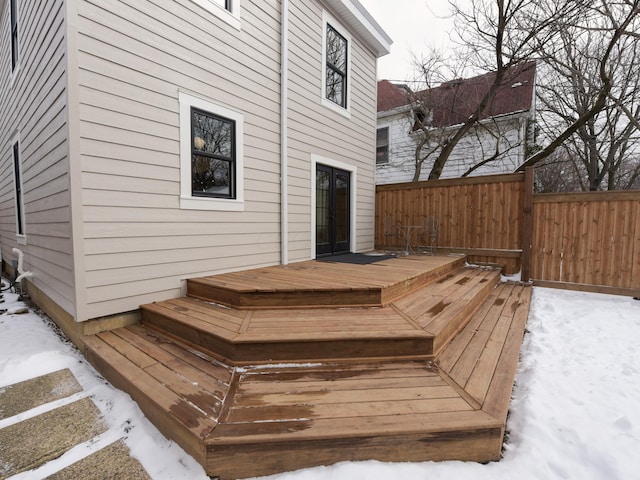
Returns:
[[[30,281],[75,315],[70,229],[64,2],[18,1],[19,65],[11,72],[9,1],[0,12],[0,238],[20,248]],[[11,137],[19,132],[24,241],[16,238]]]

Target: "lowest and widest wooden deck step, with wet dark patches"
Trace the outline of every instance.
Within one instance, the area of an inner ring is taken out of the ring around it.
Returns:
[[[347,460],[486,462],[500,458],[530,292],[499,284],[435,361],[231,366],[144,325],[87,337],[85,355],[221,480]]]

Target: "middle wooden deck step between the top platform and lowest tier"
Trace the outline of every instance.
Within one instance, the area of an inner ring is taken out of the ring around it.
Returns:
[[[432,359],[499,279],[466,267],[385,307],[254,311],[181,298],[143,305],[141,322],[233,365]]]

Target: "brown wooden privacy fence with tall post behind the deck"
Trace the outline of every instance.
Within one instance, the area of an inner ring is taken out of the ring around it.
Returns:
[[[533,194],[533,169],[376,189],[376,248],[401,247],[384,219],[439,220],[437,251],[522,271],[537,285],[640,296],[640,191]]]

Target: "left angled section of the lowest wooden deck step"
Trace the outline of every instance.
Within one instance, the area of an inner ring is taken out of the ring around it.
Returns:
[[[158,430],[205,464],[205,441],[218,425],[230,367],[139,325],[85,337],[84,355]]]

